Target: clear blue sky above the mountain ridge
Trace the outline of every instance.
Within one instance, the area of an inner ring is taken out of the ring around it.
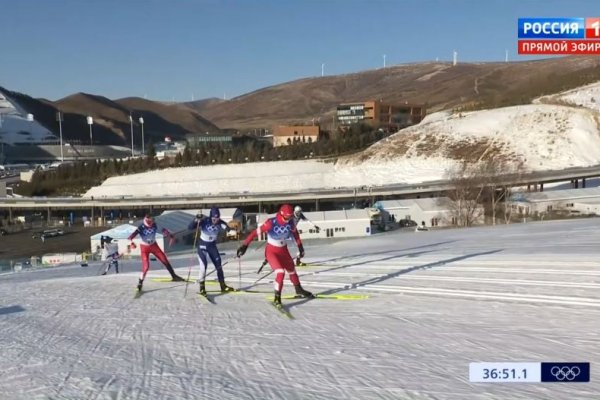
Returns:
[[[0,85],[57,100],[232,98],[296,79],[452,59],[525,60],[519,17],[597,0],[0,0]]]

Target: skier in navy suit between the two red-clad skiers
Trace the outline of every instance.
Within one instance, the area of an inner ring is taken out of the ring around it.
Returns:
[[[217,238],[219,234],[232,229],[221,219],[221,212],[219,209],[217,207],[211,208],[208,217],[202,214],[197,215],[188,225],[188,229],[200,231],[200,240],[198,241],[198,261],[200,262],[198,283],[200,285],[200,294],[206,296],[204,281],[206,279],[208,257],[210,257],[217,270],[217,278],[221,285],[221,292],[235,291],[234,288],[225,284],[225,274],[223,273],[221,256],[219,255],[219,249],[217,248]]]

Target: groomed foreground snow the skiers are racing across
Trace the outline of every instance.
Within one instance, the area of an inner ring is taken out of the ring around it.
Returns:
[[[216,305],[159,283],[133,299],[139,261],[0,276],[7,399],[597,399],[596,219],[395,231],[306,243],[303,286],[359,300],[267,300],[271,276]],[[233,245],[233,243],[232,243]],[[221,250],[230,260],[232,245]],[[224,267],[250,287],[254,243]],[[192,250],[172,256],[181,275]],[[238,268],[241,267],[241,275]],[[214,276],[212,274],[211,276]],[[209,286],[216,290],[216,286]],[[291,293],[286,279],[286,293]],[[217,293],[214,293],[215,295]],[[477,361],[588,361],[590,383],[469,383]]]

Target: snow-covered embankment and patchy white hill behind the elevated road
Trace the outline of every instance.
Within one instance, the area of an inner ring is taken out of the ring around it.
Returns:
[[[477,157],[494,152],[522,162],[528,171],[598,165],[599,92],[596,83],[548,100],[560,104],[536,101],[477,112],[435,113],[337,163],[308,160],[172,168],[109,178],[85,196],[289,192],[426,182],[447,179],[457,162],[452,153],[469,146]]]

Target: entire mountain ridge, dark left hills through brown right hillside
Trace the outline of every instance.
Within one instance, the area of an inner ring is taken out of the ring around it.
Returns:
[[[77,93],[52,102],[0,87],[36,121],[58,136],[56,111],[64,114],[65,140],[89,141],[86,116],[94,118],[97,144],[131,145],[169,135],[218,133],[221,129],[270,128],[276,124],[319,121],[330,128],[336,106],[344,102],[382,100],[422,103],[428,112],[449,108],[490,108],[527,104],[533,97],[557,93],[600,78],[600,57],[574,56],[511,63],[418,63],[352,74],[304,78],[273,85],[231,100],[217,98],[164,103],[139,97],[110,100]]]

